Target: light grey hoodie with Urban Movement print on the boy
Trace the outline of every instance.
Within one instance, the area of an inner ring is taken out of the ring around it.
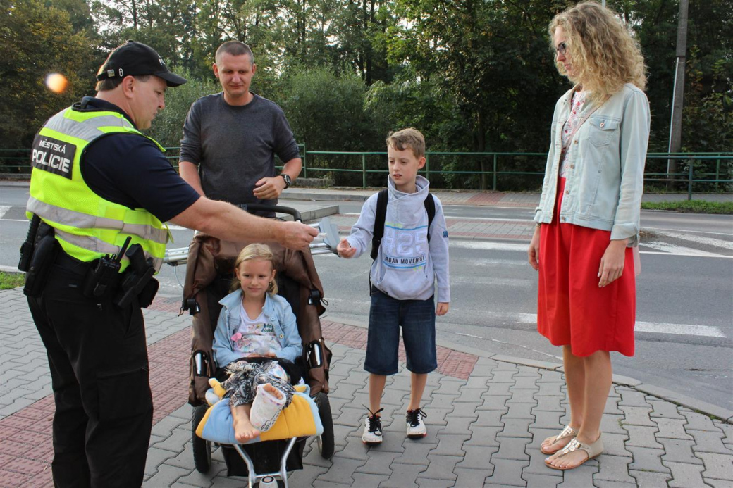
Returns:
[[[397,300],[427,300],[435,293],[438,279],[438,302],[450,302],[451,290],[448,271],[448,230],[441,201],[435,199],[435,217],[430,228],[430,246],[427,242],[427,211],[425,198],[430,182],[416,178],[416,193],[402,193],[387,178],[387,213],[384,236],[372,263],[372,285]],[[347,237],[356,249],[354,257],[361,256],[372,245],[377,193],[370,196],[356,224]]]

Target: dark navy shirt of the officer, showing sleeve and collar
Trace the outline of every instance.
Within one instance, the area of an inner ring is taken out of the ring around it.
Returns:
[[[124,114],[111,103],[92,100],[84,99],[87,109],[93,103],[97,110]],[[131,209],[144,208],[163,222],[200,197],[152,141],[136,134],[114,133],[92,141],[81,159],[81,176],[104,199]]]

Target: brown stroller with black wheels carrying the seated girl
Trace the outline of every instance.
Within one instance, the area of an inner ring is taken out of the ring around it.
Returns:
[[[290,207],[251,204],[245,210],[272,210],[288,213],[296,220],[301,220],[300,213]],[[329,226],[328,219],[323,219],[323,224],[325,242],[328,244],[315,244],[312,248],[335,248],[338,243],[336,227]],[[217,368],[224,366],[215,364],[212,350],[213,334],[221,310],[218,301],[229,292],[235,259],[247,244],[249,243],[232,243],[205,234],[196,234],[185,258],[181,257],[183,249],[169,251],[169,256],[179,256],[177,259],[169,258],[169,264],[175,265],[184,261],[188,264],[183,288],[183,310],[188,310],[193,316],[188,403],[194,407],[194,465],[200,473],[207,473],[210,469],[212,443],[196,435],[196,426],[208,408],[205,394],[210,388],[209,378],[215,377]],[[317,445],[320,455],[329,459],[334,454],[334,424],[327,396],[331,351],[323,341],[319,319],[325,311],[322,303],[323,286],[310,250],[291,251],[276,244],[270,245],[270,248],[276,256],[279,295],[285,297],[292,306],[303,341],[303,354],[296,361],[296,365],[301,366],[303,380],[309,385],[310,396],[318,407],[318,417],[323,424],[323,434],[317,437]],[[305,442],[304,437],[270,440],[233,446],[234,448],[222,446],[222,452],[230,476],[248,476],[250,486],[265,476],[278,476],[287,486],[286,472],[303,467]],[[258,474],[263,470],[268,473]]]

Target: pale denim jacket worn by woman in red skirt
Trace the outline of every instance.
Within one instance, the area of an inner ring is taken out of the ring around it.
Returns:
[[[550,151],[534,221],[553,220],[560,167],[561,135],[570,117],[574,87],[555,106]],[[583,117],[597,104],[586,102]],[[560,221],[611,231],[611,240],[628,238],[638,245],[644,163],[649,143],[649,101],[633,84],[625,84],[598,107],[573,136],[566,163]]]

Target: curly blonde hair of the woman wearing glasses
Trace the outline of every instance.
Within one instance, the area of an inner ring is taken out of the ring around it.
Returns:
[[[594,1],[584,1],[555,15],[550,22],[550,45],[555,52],[553,36],[561,27],[567,36],[567,55],[572,76],[562,63],[557,70],[573,83],[582,83],[594,101],[605,100],[619,92],[625,83],[644,89],[647,67],[636,39],[614,12]]]

